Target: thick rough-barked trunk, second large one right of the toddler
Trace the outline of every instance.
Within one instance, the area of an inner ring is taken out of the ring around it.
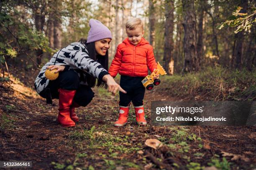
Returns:
[[[194,0],[182,0],[184,11],[184,67],[183,72],[198,70],[196,55],[196,15]]]

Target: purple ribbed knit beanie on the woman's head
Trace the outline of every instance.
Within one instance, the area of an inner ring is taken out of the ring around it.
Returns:
[[[103,25],[100,21],[90,19],[89,21],[90,30],[88,32],[87,43],[95,42],[105,38],[112,39],[112,35],[108,27]]]

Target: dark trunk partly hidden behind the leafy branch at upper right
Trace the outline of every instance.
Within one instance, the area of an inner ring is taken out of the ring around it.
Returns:
[[[248,0],[241,0],[241,7],[243,7],[240,10],[240,13],[246,13],[247,8],[248,8]],[[236,64],[235,67],[237,69],[241,69],[242,67],[242,56],[243,56],[243,41],[244,41],[244,31],[240,31],[237,33],[237,41],[236,41],[236,48],[235,48],[235,59],[236,59]]]

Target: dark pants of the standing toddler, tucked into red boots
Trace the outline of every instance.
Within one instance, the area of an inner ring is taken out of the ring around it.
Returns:
[[[132,101],[134,106],[143,105],[143,98],[145,94],[145,87],[143,86],[141,80],[144,77],[130,77],[121,75],[120,86],[127,93],[119,92],[120,101],[119,105],[128,106]]]

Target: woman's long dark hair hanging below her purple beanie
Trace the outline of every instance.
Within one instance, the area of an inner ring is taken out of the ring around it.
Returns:
[[[87,43],[87,40],[85,40],[85,39],[81,39],[81,40],[79,40],[79,42],[86,46],[87,51],[89,52],[89,57],[92,60],[95,60],[95,61],[99,62],[102,65],[102,67],[104,67],[106,70],[108,70],[108,50],[107,50],[105,56],[98,55],[96,50],[95,50],[95,42]],[[95,84],[96,84],[96,78],[95,77],[86,73],[85,78],[86,78],[86,82],[88,83],[88,85],[90,87],[95,86]],[[105,82],[97,80],[97,87],[101,87],[103,85],[105,85]]]

